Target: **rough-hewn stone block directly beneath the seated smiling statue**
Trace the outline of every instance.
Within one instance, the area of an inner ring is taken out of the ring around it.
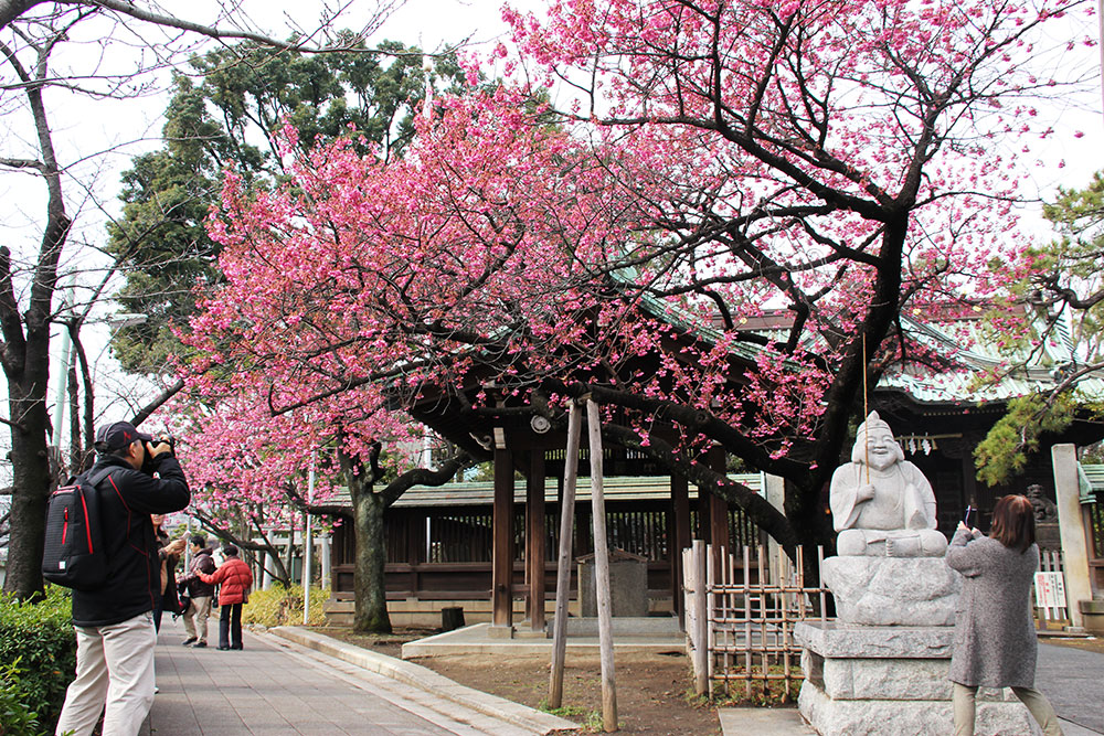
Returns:
[[[962,577],[942,557],[829,557],[824,582],[839,620],[869,626],[953,626]]]

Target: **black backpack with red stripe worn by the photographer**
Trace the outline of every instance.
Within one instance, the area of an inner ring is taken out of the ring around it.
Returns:
[[[107,580],[107,551],[96,487],[113,470],[105,468],[91,477],[82,473],[50,494],[42,577],[51,583],[87,590]]]

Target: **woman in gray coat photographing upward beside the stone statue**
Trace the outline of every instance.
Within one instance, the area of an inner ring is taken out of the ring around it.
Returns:
[[[974,734],[978,686],[1011,687],[1047,736],[1062,728],[1034,689],[1036,642],[1031,580],[1039,567],[1034,510],[1023,495],[1006,495],[992,510],[989,536],[959,522],[947,564],[963,574],[951,655],[955,736]]]

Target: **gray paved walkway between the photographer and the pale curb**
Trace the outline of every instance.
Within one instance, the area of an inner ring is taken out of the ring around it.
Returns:
[[[212,641],[216,631],[217,621]],[[147,732],[156,736],[533,733],[266,634],[246,632],[244,651],[224,652],[182,647],[184,637],[167,616]]]

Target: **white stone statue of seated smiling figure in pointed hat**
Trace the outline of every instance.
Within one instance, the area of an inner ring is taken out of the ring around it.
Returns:
[[[935,530],[935,493],[904,459],[877,412],[859,425],[851,461],[831,477],[830,505],[841,556],[937,557],[947,537]]]

